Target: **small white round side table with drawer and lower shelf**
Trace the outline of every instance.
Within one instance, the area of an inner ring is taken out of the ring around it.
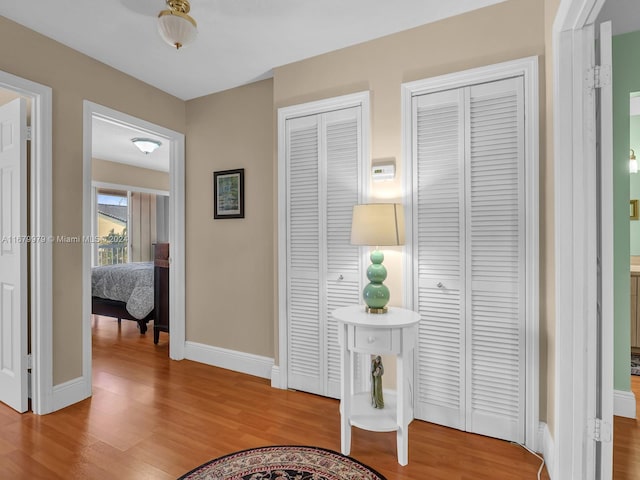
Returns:
[[[351,427],[374,432],[396,431],[398,463],[409,461],[409,422],[413,420],[410,383],[413,349],[420,315],[412,310],[389,307],[387,313],[367,313],[364,305],[353,305],[333,311],[338,321],[340,343],[340,444],[342,453],[351,451]],[[371,405],[370,392],[355,392],[354,365],[356,354],[395,355],[396,392],[385,392],[382,409]]]

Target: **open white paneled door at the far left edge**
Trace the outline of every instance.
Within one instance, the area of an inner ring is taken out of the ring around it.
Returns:
[[[0,400],[26,412],[26,101],[0,107]]]

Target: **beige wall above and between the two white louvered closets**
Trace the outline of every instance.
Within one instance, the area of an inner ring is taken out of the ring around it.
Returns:
[[[433,24],[345,48],[274,70],[275,108],[359,91],[371,95],[371,157],[395,157],[394,182],[372,184],[372,199],[402,196],[401,84],[445,73],[539,56],[540,162],[545,164],[545,11],[539,0],[509,0]],[[274,166],[275,168],[275,166]],[[540,183],[541,208],[548,203],[545,181]],[[547,200],[544,200],[547,199]],[[552,201],[552,197],[551,197]],[[545,203],[547,202],[547,203]],[[545,220],[541,212],[541,220]],[[545,231],[548,233],[548,231]],[[552,232],[552,230],[551,230]],[[545,247],[541,248],[541,279],[552,275]],[[395,253],[395,252],[394,252]],[[551,258],[552,261],[552,258]],[[400,255],[385,258],[387,283],[402,302]],[[277,265],[277,263],[276,263]],[[543,287],[541,290],[547,290]],[[545,296],[544,292],[541,292]],[[544,313],[543,313],[544,315]],[[274,313],[277,332],[277,314]],[[541,350],[546,352],[546,326],[542,320]],[[277,335],[276,335],[277,338]],[[277,346],[276,346],[277,350]],[[541,369],[540,403],[546,413],[546,363]],[[389,369],[387,369],[389,370]]]

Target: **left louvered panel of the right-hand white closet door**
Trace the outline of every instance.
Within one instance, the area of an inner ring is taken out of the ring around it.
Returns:
[[[415,104],[414,191],[417,248],[417,418],[464,428],[464,198],[462,93],[441,92]],[[438,286],[440,285],[440,286]]]

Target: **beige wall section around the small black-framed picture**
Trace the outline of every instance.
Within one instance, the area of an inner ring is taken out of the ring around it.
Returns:
[[[271,79],[187,102],[187,340],[274,356]],[[244,168],[245,218],[213,219],[213,172]]]

